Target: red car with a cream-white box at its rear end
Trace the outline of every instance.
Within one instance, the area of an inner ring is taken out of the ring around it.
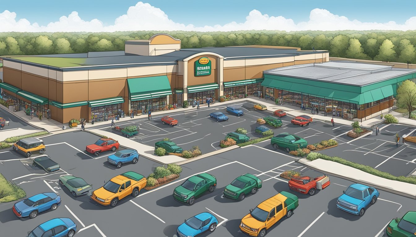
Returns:
[[[309,175],[306,173],[309,173]],[[317,171],[309,170],[302,173],[302,175],[304,176],[300,178],[291,178],[289,180],[288,184],[291,190],[312,196],[316,193],[316,190],[322,190],[331,184],[327,175]],[[312,179],[311,177],[316,178]]]

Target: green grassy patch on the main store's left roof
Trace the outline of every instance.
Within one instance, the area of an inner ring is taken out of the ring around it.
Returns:
[[[32,62],[36,64],[44,64],[60,68],[85,66],[85,58],[55,58],[55,57],[12,57],[22,61]]]

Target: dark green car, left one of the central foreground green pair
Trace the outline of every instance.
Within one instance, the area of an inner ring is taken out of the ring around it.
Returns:
[[[209,173],[200,173],[188,178],[173,191],[173,198],[181,203],[192,205],[195,199],[201,197],[207,191],[211,193],[217,185],[217,178]]]

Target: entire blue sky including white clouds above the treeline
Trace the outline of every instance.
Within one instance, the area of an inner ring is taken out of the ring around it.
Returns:
[[[415,0],[1,0],[0,32],[416,30],[415,8]]]

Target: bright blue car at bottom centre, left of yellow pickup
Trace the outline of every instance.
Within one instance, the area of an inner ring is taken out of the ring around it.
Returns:
[[[217,218],[211,215],[211,213],[201,213],[185,220],[185,222],[176,230],[176,235],[178,235],[178,237],[195,237],[207,230],[213,232],[217,227],[217,224]]]

